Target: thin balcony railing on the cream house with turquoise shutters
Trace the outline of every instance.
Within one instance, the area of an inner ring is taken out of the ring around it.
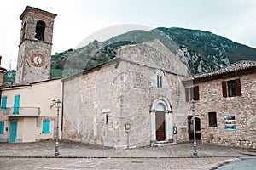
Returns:
[[[7,107],[0,109],[3,116],[39,116],[40,107]]]

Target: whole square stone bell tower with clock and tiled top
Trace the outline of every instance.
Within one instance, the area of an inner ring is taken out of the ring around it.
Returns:
[[[15,82],[40,82],[50,78],[52,37],[56,16],[29,6],[20,15],[22,22]]]

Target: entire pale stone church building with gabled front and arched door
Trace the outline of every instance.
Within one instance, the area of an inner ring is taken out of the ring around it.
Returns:
[[[159,40],[122,46],[106,64],[63,80],[63,138],[106,145],[108,133],[113,147],[186,141],[187,76]]]

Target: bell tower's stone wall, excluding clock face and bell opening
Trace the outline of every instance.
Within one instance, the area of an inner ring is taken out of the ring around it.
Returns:
[[[45,23],[44,41],[39,41],[35,38],[36,26],[39,20],[43,20]],[[26,26],[24,23],[26,23]],[[44,14],[27,14],[26,19],[22,20],[15,82],[31,83],[49,80],[53,26],[54,19]],[[25,37],[23,38],[24,29]],[[44,57],[44,65],[32,65],[33,54],[42,55]]]

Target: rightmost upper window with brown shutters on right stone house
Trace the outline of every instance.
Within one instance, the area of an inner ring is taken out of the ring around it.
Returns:
[[[223,97],[241,96],[241,82],[240,79],[229,80],[222,82]]]

